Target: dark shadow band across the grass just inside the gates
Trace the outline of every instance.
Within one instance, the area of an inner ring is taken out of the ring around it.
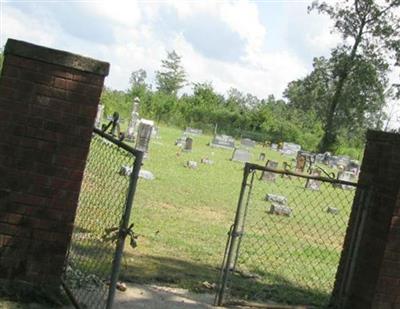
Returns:
[[[121,278],[127,282],[179,286],[198,293],[215,294],[216,288],[212,286],[218,283],[218,277],[217,267],[179,258],[147,255],[127,257],[121,270]],[[282,276],[267,272],[258,273],[256,277],[233,273],[227,286],[226,300],[274,301],[317,308],[323,308],[329,301],[327,293],[296,286]]]

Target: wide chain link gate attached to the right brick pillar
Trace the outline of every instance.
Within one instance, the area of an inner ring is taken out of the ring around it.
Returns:
[[[366,190],[356,194],[356,188],[246,163],[215,305],[250,301],[326,308],[352,207],[365,203]],[[345,272],[351,277],[351,269]]]

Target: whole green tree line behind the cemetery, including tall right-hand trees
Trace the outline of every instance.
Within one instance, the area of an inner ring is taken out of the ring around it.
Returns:
[[[313,2],[309,10],[329,15],[342,35],[329,57],[315,57],[306,77],[290,82],[283,99],[257,98],[238,89],[223,96],[212,83],[192,83],[192,94],[177,93],[187,84],[181,57],[168,52],[156,72],[156,89],[143,69],[134,71],[127,91],[105,88],[106,111],[129,117],[133,97],[141,115],[180,127],[193,126],[257,141],[291,141],[310,151],[359,157],[367,129],[382,129],[388,98],[398,97],[388,74],[400,62],[400,0],[348,0],[334,5]]]

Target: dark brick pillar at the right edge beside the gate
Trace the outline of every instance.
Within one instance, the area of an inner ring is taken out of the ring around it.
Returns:
[[[371,188],[346,309],[400,308],[400,135],[368,131],[359,183]],[[359,193],[359,192],[358,192]],[[350,223],[355,221],[355,212]],[[349,258],[348,227],[334,296],[348,280],[341,270]]]

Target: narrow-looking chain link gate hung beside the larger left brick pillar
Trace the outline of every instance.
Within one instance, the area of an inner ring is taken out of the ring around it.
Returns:
[[[143,152],[94,129],[63,286],[76,308],[112,308]]]

